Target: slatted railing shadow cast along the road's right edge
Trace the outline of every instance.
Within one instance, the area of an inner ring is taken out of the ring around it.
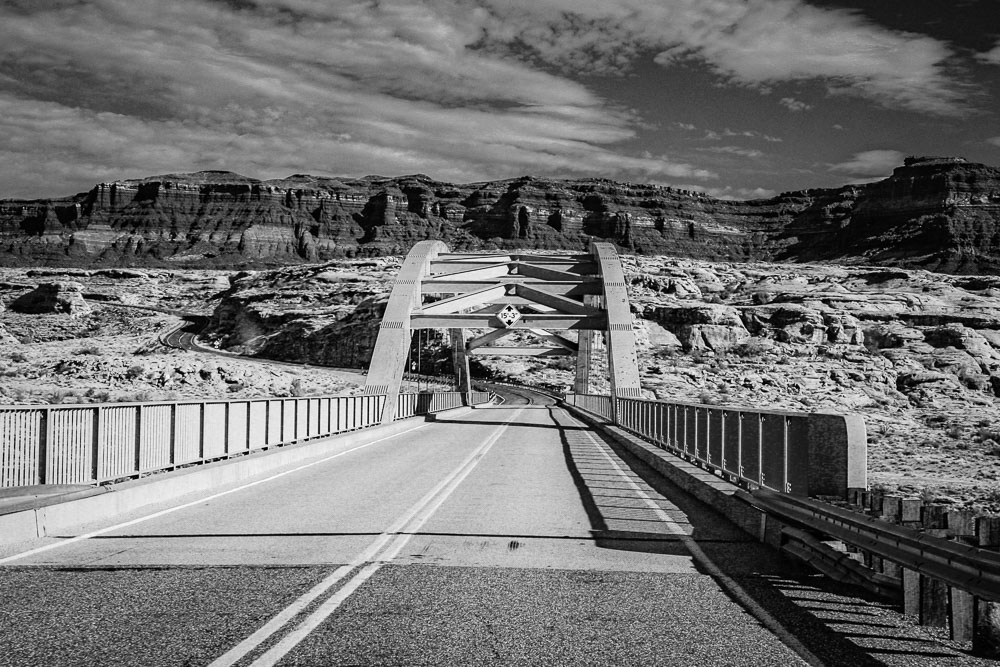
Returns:
[[[713,577],[735,603],[759,616],[734,594],[734,586],[741,589],[825,665],[940,665],[967,659],[928,639],[926,630],[913,626],[890,604],[816,575],[761,544],[610,438],[581,427],[565,411],[549,411],[599,547],[690,554],[686,543],[693,540],[721,576],[694,559],[699,572]]]

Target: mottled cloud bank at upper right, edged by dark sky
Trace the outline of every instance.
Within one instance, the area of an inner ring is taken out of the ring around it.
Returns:
[[[672,67],[695,60],[716,74],[768,91],[818,80],[896,109],[961,115],[966,86],[942,41],[891,30],[859,13],[803,0],[481,0],[491,21],[479,45],[508,47],[577,72],[628,71],[658,51]]]

